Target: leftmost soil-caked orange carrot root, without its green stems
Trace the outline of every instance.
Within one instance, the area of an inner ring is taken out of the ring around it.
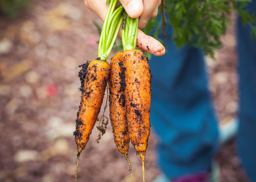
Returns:
[[[95,121],[99,115],[108,77],[109,64],[106,61],[92,60],[83,65],[79,72],[81,80],[81,103],[77,112],[76,130],[77,168],[79,156],[90,138]],[[76,170],[77,171],[77,170]]]

